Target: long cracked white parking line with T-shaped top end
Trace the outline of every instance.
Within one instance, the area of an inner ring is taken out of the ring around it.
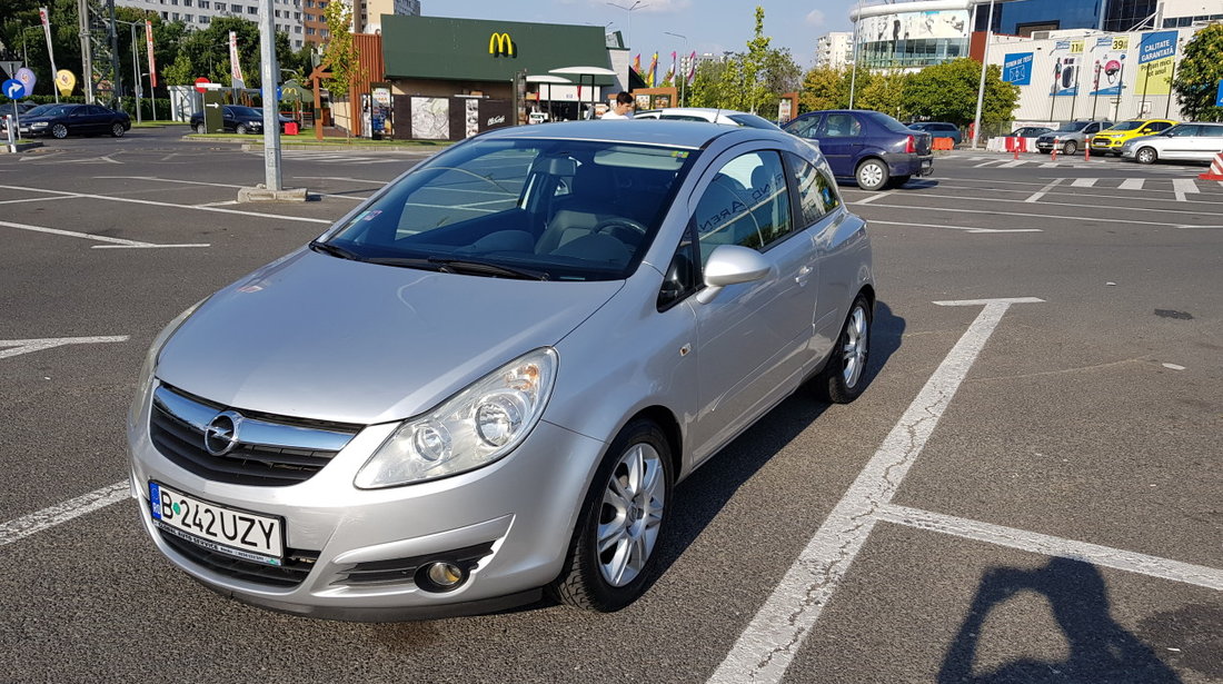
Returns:
[[[934,302],[985,308],[811,537],[709,677],[709,683],[780,682],[785,677],[786,668],[874,527],[873,513],[892,500],[1003,314],[1013,303],[1040,301],[1018,297]]]

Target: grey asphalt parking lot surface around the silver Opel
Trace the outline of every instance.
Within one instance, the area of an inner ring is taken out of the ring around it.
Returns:
[[[165,322],[427,153],[286,151],[316,199],[237,204],[262,155],[181,132],[0,155],[0,682],[1223,682],[1203,166],[958,151],[843,186],[874,247],[871,384],[790,398],[680,485],[642,600],[350,624],[174,570],[124,421]]]

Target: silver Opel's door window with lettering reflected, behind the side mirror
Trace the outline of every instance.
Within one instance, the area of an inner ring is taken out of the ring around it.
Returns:
[[[785,170],[777,152],[728,162],[709,182],[692,217],[701,264],[719,245],[764,251],[793,230]]]

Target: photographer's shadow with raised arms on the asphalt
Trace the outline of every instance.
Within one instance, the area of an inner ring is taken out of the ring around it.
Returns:
[[[1069,655],[1062,661],[1025,656],[976,673],[974,663],[978,661],[981,634],[988,626],[991,613],[1025,592],[1048,601]],[[992,568],[985,573],[955,641],[943,660],[937,682],[1180,684],[1181,680],[1156,657],[1150,646],[1112,618],[1104,578],[1095,565],[1070,558],[1052,558],[1047,565],[1033,570]]]

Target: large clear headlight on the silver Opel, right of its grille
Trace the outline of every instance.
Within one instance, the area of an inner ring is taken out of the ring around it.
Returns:
[[[539,422],[556,379],[553,349],[537,349],[472,383],[427,415],[405,421],[361,467],[353,485],[394,487],[483,467]]]

